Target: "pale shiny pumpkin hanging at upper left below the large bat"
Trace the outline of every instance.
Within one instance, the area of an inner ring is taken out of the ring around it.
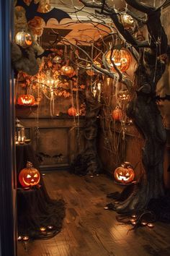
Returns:
[[[18,32],[15,35],[15,43],[23,48],[27,48],[32,45],[32,37],[29,33],[24,31]]]

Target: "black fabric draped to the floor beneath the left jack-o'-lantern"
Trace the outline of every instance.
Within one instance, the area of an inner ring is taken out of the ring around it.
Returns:
[[[24,189],[19,184],[19,171],[26,168],[27,161],[39,169],[32,145],[17,145],[17,223],[19,236],[30,236],[32,239],[48,239],[61,231],[65,216],[63,200],[52,200],[48,196],[41,177],[40,184]],[[41,228],[45,230],[41,231]]]

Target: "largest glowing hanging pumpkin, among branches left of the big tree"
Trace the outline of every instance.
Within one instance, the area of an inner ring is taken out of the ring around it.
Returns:
[[[112,64],[112,61],[114,62],[117,69],[119,69],[121,72],[125,72],[130,67],[131,62],[131,56],[128,50],[125,49],[115,49],[112,51],[112,61],[110,60],[111,51],[108,51],[106,54],[107,62],[109,63],[110,67],[112,67],[112,71],[116,71],[115,67]]]

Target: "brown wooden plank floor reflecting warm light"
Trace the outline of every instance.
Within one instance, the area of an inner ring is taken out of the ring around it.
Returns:
[[[122,189],[107,176],[79,177],[55,171],[43,179],[51,198],[66,201],[63,229],[53,239],[28,242],[27,250],[19,242],[17,256],[170,255],[170,224],[128,232],[131,226],[120,225],[115,212],[104,210],[111,202],[107,193]]]

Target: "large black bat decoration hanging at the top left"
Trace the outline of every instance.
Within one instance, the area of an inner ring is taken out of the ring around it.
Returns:
[[[45,24],[51,18],[58,20],[58,23],[60,23],[63,19],[71,19],[67,12],[64,12],[63,10],[57,8],[53,8],[50,12],[46,13],[37,12],[39,3],[35,4],[33,0],[29,6],[27,6],[27,4],[24,3],[24,1],[17,0],[16,7],[17,6],[23,7],[25,9],[25,16],[27,18],[27,22],[34,19],[35,16],[41,17],[45,21]]]

